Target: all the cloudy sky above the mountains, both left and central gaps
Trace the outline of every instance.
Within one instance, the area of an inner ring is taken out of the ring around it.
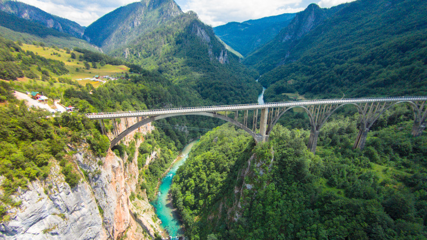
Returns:
[[[48,13],[88,26],[112,10],[137,0],[20,0]],[[206,24],[243,22],[304,10],[310,3],[331,7],[351,0],[175,0],[184,12],[193,10]]]

